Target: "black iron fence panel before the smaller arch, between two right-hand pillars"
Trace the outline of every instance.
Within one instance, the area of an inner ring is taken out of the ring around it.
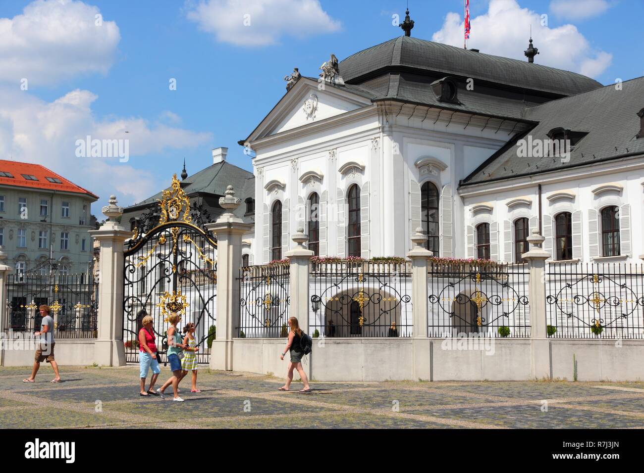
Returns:
[[[530,337],[527,264],[428,266],[428,336]]]

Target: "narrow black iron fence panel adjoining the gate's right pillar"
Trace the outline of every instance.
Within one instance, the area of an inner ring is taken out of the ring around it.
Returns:
[[[287,337],[290,304],[289,263],[240,269],[240,338]]]

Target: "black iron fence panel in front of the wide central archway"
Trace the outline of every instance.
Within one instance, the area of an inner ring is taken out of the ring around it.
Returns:
[[[409,262],[312,262],[309,284],[315,337],[411,337]]]

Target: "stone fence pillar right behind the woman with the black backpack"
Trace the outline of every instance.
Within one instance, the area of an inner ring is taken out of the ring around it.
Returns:
[[[290,260],[290,317],[297,317],[299,328],[308,333],[308,308],[310,298],[308,295],[308,262],[313,256],[311,250],[304,247],[308,236],[303,228],[298,228],[292,240],[298,244],[295,248],[285,253]],[[308,335],[313,336],[312,333]]]

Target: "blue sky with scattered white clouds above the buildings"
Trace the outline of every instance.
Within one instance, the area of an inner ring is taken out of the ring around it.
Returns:
[[[57,37],[55,30],[66,30],[64,22],[74,21],[74,15],[64,15],[68,20],[52,18],[55,12],[44,8],[47,1],[43,1],[36,5],[36,13],[43,21],[60,21],[63,26],[54,26],[51,39],[41,35],[41,42],[34,40],[33,47],[15,57],[3,41],[7,34],[3,19],[15,21],[25,7],[34,5],[0,1],[0,99],[8,97],[12,104],[0,105],[0,158],[48,165],[99,194],[99,205],[106,203],[110,193],[117,194],[122,205],[146,198],[164,187],[173,172],[180,173],[184,158],[189,173],[209,165],[213,147],[229,147],[229,161],[252,170],[237,141],[285,93],[283,77],[294,67],[303,75],[315,76],[330,53],[341,60],[401,35],[401,29],[392,25],[392,15],[401,15],[402,21],[406,4],[404,0],[321,0],[311,10],[317,2],[305,0],[307,5],[298,10],[298,5],[293,6],[296,1],[240,0],[234,15],[227,18],[221,12],[227,11],[228,1],[207,0],[200,7],[198,1],[87,0],[84,5],[95,8],[92,11],[100,12],[103,21],[113,23],[112,31],[118,32],[117,37],[112,34],[96,41],[75,34]],[[70,2],[63,0],[59,10],[72,8],[74,2]],[[499,55],[516,51],[515,57],[521,59],[533,15],[547,14],[547,30],[533,24],[535,45],[541,50],[536,62],[584,71],[603,84],[644,75],[644,1],[495,2],[495,9],[506,10],[504,14],[493,13],[490,1],[471,0],[469,47]],[[254,10],[261,4],[264,10]],[[453,12],[462,21],[462,0],[410,0],[409,6],[415,21],[413,36],[460,41],[462,30],[455,26],[456,18],[447,16]],[[253,12],[250,26],[243,26],[239,18],[245,7]],[[79,18],[83,11],[79,10]],[[212,17],[207,18],[209,14]],[[76,39],[77,49],[55,47],[57,41]],[[48,44],[53,44],[53,50]],[[63,51],[60,58],[56,57],[59,50]],[[81,64],[73,63],[71,56],[81,53],[87,57]],[[3,61],[12,64],[5,75]],[[43,64],[34,66],[37,61]],[[33,77],[28,91],[19,89],[23,77]],[[174,91],[169,89],[171,78],[176,79]],[[78,92],[70,98],[73,91]],[[61,97],[67,97],[64,113],[52,106]],[[43,131],[48,129],[54,131]],[[126,137],[122,129],[130,130],[131,140],[137,130],[144,136],[144,143],[131,144],[128,163],[112,159],[97,165],[90,161],[104,158],[73,154],[75,139],[84,137],[86,130],[93,137],[97,133]],[[93,207],[95,214],[97,207]]]

